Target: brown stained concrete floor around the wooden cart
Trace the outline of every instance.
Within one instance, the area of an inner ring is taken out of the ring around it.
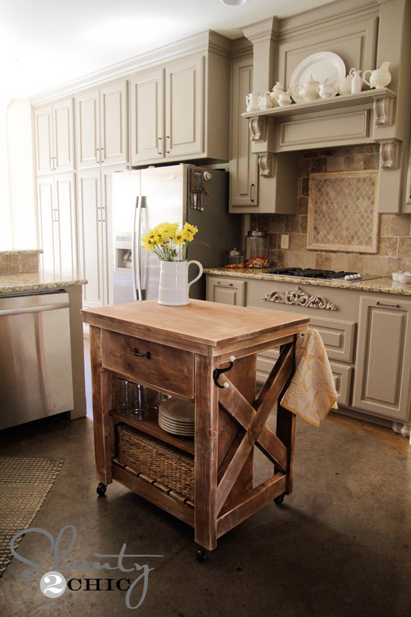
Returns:
[[[338,414],[319,429],[299,420],[292,495],[221,537],[203,564],[195,559],[186,524],[118,483],[97,496],[90,418],[0,433],[0,451],[64,459],[34,526],[53,537],[64,525],[75,526],[67,569],[53,567],[48,540],[40,534],[25,535],[18,552],[43,573],[58,570],[67,581],[82,578],[83,585],[47,598],[38,580],[23,578],[26,566],[14,558],[0,579],[1,616],[411,615],[411,448],[387,428]],[[269,469],[265,459],[256,466],[259,476]],[[76,559],[92,564],[95,553],[117,555],[123,544],[129,554],[163,555],[126,561],[154,568],[145,601],[134,611],[125,604],[125,591],[87,591],[84,579],[112,578],[115,585],[122,577],[134,581],[140,572],[72,568]]]

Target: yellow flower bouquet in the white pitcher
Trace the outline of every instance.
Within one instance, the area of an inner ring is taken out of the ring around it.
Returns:
[[[192,241],[198,229],[190,223],[160,223],[142,237],[142,245],[147,251],[153,251],[160,261],[186,261],[187,245]]]

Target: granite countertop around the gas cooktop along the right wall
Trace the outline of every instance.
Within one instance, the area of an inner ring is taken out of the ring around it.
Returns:
[[[266,268],[204,268],[205,274],[215,274],[216,276],[256,278],[271,281],[278,280],[281,282],[303,283],[304,285],[319,285],[319,287],[340,287],[340,289],[360,289],[361,291],[379,291],[381,293],[411,295],[410,284],[403,285],[388,277],[354,282],[348,280],[321,280],[316,278],[301,278],[299,276],[282,276],[280,274],[266,274],[266,271]]]

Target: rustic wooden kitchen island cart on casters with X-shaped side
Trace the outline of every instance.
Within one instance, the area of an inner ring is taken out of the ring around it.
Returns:
[[[295,416],[278,404],[275,432],[266,420],[288,387],[295,341],[308,318],[201,300],[133,302],[82,314],[90,324],[98,492],[114,479],[192,525],[199,561],[220,535],[290,494]],[[256,398],[256,354],[277,346],[279,359]],[[194,439],[167,433],[153,416],[136,420],[116,411],[117,378],[194,402]],[[194,497],[184,496],[172,478],[156,478],[150,462],[143,469],[119,460],[121,431],[134,431],[136,444],[158,444],[165,459],[167,448],[173,459],[181,452]],[[254,446],[273,463],[273,476],[258,486]]]

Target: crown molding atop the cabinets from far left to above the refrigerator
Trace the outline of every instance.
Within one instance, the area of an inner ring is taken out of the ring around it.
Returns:
[[[141,53],[139,56],[134,56],[134,58],[116,62],[116,64],[106,66],[104,69],[100,69],[94,73],[88,73],[88,75],[83,75],[61,86],[45,90],[44,92],[29,97],[29,101],[35,107],[47,104],[51,101],[73,96],[82,90],[96,88],[106,82],[128,77],[135,71],[144,71],[158,64],[164,64],[166,62],[171,62],[171,60],[190,56],[192,53],[212,52],[220,56],[231,58],[231,47],[231,39],[213,30],[206,30],[205,32],[188,36],[187,38],[175,41],[169,45],[164,45],[164,47],[158,47],[158,49],[153,49],[153,51]]]

